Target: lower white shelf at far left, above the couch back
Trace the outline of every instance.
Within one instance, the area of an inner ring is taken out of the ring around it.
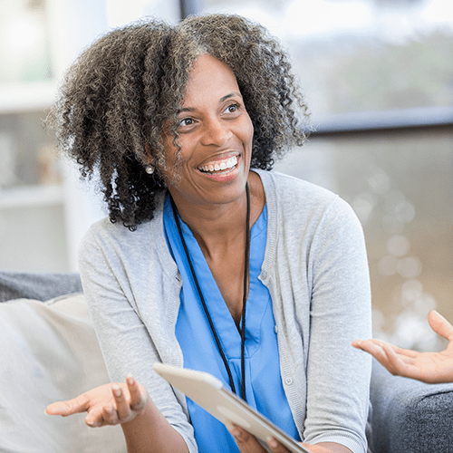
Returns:
[[[24,186],[0,189],[0,209],[63,205],[61,186]]]

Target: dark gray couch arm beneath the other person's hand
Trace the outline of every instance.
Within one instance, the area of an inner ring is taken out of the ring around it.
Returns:
[[[373,361],[371,404],[373,453],[453,452],[453,383],[392,376]]]

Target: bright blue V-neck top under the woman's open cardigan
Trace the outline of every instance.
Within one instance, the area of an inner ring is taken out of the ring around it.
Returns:
[[[217,335],[225,352],[233,374],[236,392],[241,392],[241,336],[236,323],[218,290],[206,259],[198,246],[197,239],[188,226],[179,222],[192,265],[198,278],[201,292],[207,304]],[[207,371],[223,381],[230,389],[228,375],[217,344],[207,322],[203,305],[199,300],[197,287],[190,272],[178,226],[169,196],[164,205],[164,229],[169,250],[176,260],[182,277],[180,307],[176,325],[176,336],[181,347],[184,367]],[[283,429],[294,439],[300,440],[294,425],[293,414],[288,405],[282,378],[275,333],[275,320],[269,291],[258,279],[265,257],[267,236],[267,210],[250,231],[250,285],[246,303],[246,401],[261,412],[267,419]],[[187,399],[190,422],[194,427],[195,439],[200,453],[239,453],[236,442],[226,427],[194,403]]]

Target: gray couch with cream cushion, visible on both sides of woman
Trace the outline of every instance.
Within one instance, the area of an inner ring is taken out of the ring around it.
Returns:
[[[75,274],[0,272],[0,452],[123,453],[120,427],[90,429],[84,415],[44,414],[108,381]],[[453,383],[371,379],[373,453],[453,452]]]

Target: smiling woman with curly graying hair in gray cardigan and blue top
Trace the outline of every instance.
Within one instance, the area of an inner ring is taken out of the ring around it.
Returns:
[[[126,382],[48,413],[120,423],[130,452],[264,451],[171,389],[152,371],[163,361],[216,375],[313,453],[366,450],[361,226],[330,192],[267,171],[304,142],[296,109],[279,44],[234,15],[133,24],[82,54],[54,120],[109,206],[80,268],[111,380]]]

